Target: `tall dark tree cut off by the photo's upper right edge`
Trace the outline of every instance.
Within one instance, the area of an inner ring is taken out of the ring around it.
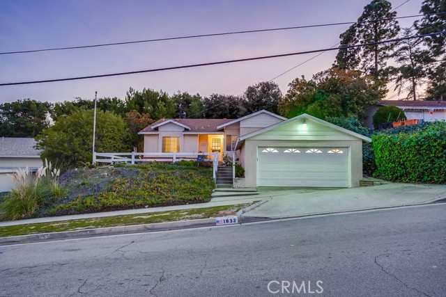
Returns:
[[[424,0],[421,12],[424,14],[421,22],[415,22],[415,27],[422,35],[446,30],[446,0]],[[436,13],[443,13],[435,15]],[[429,58],[424,67],[429,83],[426,89],[427,99],[440,99],[446,96],[446,35],[438,34],[424,38],[429,47]]]

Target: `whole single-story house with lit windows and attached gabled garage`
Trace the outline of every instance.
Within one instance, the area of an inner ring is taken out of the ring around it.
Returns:
[[[355,187],[370,138],[303,114],[258,111],[236,120],[169,119],[143,129],[144,152],[235,152],[244,187]]]

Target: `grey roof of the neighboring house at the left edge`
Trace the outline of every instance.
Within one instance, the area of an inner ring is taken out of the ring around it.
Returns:
[[[0,138],[0,157],[40,157],[34,138]]]

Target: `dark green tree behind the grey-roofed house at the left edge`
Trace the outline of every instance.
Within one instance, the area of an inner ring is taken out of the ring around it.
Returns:
[[[0,136],[35,137],[49,126],[50,109],[48,102],[29,98],[0,104]]]

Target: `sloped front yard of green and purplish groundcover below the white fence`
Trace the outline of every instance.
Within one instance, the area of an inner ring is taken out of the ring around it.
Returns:
[[[164,163],[75,169],[60,182],[67,194],[33,217],[208,202],[214,187],[211,168]]]

